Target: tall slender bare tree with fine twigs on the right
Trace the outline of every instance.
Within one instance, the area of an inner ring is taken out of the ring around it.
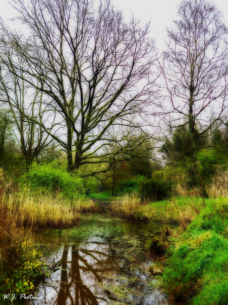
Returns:
[[[163,74],[171,126],[187,125],[193,142],[222,118],[227,100],[227,28],[205,0],[183,1],[168,30]],[[212,117],[214,117],[212,119]]]

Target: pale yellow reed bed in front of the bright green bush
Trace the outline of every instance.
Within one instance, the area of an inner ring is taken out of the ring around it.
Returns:
[[[80,219],[82,212],[96,209],[91,200],[69,200],[61,196],[32,194],[28,191],[13,194],[9,198],[9,209],[13,209],[15,205],[18,206],[20,225],[52,228],[72,226]]]

